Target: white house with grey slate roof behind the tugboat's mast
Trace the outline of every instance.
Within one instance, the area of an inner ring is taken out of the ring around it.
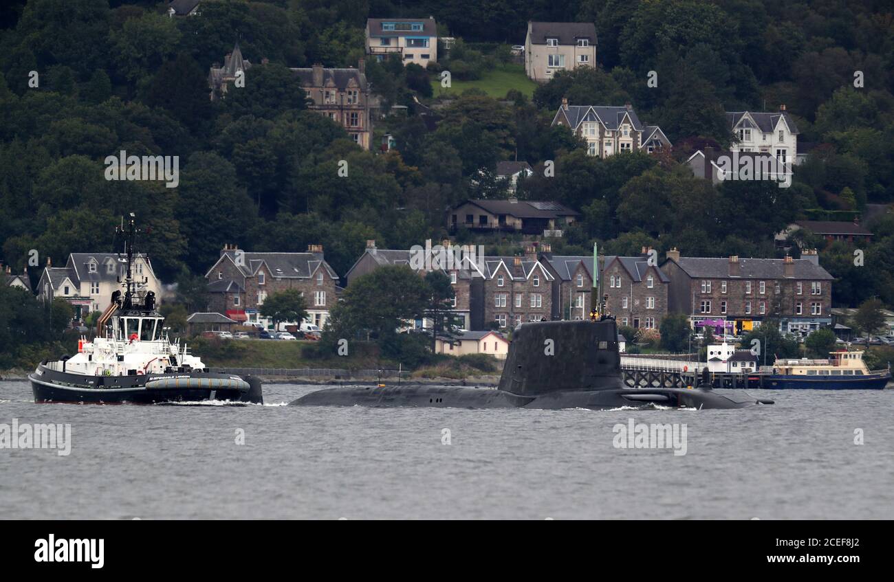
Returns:
[[[74,319],[82,321],[90,312],[101,312],[112,303],[112,293],[120,290],[119,279],[127,273],[127,258],[114,253],[72,253],[64,267],[54,267],[49,258],[38,281],[38,297],[45,301],[61,298],[72,304]],[[135,254],[133,276],[140,291],[152,291],[161,303],[161,283],[145,254]]]

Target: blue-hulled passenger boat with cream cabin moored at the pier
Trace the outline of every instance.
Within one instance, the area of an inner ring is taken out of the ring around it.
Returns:
[[[863,352],[830,352],[828,360],[776,360],[764,386],[811,390],[881,390],[891,379],[888,370],[869,370]]]

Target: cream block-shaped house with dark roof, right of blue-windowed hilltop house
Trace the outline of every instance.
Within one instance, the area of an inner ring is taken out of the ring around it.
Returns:
[[[525,72],[545,83],[559,71],[596,66],[593,22],[527,22]]]

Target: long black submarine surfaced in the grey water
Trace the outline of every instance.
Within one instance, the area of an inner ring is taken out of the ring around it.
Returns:
[[[618,329],[601,320],[535,321],[512,334],[497,389],[403,385],[326,388],[301,396],[290,406],[371,406],[436,408],[582,408],[622,406],[745,408],[772,404],[715,393],[709,383],[696,388],[630,388],[620,371]]]

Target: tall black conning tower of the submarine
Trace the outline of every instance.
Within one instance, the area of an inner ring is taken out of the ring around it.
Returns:
[[[623,387],[614,320],[531,322],[512,332],[501,390],[536,396]]]

